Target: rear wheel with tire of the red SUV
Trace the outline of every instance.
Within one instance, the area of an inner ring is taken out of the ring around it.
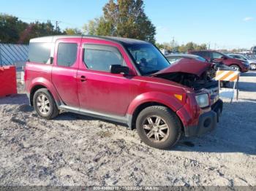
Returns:
[[[39,89],[34,93],[33,105],[37,114],[47,120],[51,120],[59,114],[56,102],[46,88]]]

